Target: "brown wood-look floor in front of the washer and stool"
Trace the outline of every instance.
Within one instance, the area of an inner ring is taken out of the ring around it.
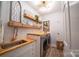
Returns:
[[[62,50],[58,50],[56,47],[50,47],[47,50],[46,57],[64,57]]]

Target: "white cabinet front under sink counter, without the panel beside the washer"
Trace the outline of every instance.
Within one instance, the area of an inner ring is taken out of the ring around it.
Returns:
[[[13,51],[6,52],[2,56],[4,57],[34,57],[35,56],[35,42],[28,45],[17,48]]]

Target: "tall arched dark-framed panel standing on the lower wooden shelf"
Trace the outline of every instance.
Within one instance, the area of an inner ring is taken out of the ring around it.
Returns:
[[[21,3],[19,1],[10,2],[10,20],[21,22]]]

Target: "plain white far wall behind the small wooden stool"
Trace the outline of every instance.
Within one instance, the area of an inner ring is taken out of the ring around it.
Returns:
[[[50,34],[51,34],[51,43],[52,45],[56,44],[56,35],[60,33],[63,39],[63,13],[56,12],[46,16],[43,16],[42,19],[50,21]]]

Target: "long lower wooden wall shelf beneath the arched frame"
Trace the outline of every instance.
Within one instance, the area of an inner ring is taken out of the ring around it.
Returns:
[[[29,29],[40,29],[41,27],[38,26],[32,26],[29,24],[22,24],[20,22],[16,22],[16,21],[9,21],[8,22],[8,26],[9,27],[16,27],[16,28],[29,28]]]

